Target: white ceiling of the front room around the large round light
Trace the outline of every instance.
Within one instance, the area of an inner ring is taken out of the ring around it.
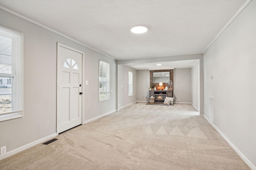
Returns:
[[[245,2],[0,0],[0,6],[122,60],[203,53]],[[134,25],[148,32],[132,33]]]

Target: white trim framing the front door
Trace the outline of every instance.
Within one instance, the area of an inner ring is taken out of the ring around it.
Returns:
[[[83,51],[79,51],[79,50],[77,50],[77,49],[74,49],[74,48],[72,48],[72,47],[69,47],[69,46],[67,46],[67,45],[64,45],[64,44],[62,44],[62,43],[59,43],[59,42],[57,42],[57,76],[58,76],[58,58],[59,58],[59,51],[60,51],[60,47],[63,47],[63,48],[66,48],[66,49],[69,49],[69,50],[72,50],[72,51],[75,51],[75,52],[77,52],[77,53],[80,53],[80,54],[82,54],[82,122],[81,122],[81,124],[84,124],[84,86],[85,86],[85,80],[84,80],[84,75],[85,75],[85,59],[84,59],[84,52]],[[56,133],[57,133],[57,135],[58,135],[58,117],[59,117],[59,113],[58,113],[58,111],[57,111],[57,108],[58,108],[58,84],[59,84],[59,82],[58,82],[58,78],[56,77],[56,82],[57,82],[57,84],[56,84]]]

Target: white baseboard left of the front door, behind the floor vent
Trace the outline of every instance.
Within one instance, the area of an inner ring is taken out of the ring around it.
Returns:
[[[14,154],[16,154],[16,153],[18,153],[18,152],[21,152],[21,151],[23,151],[23,150],[25,150],[25,149],[30,148],[30,147],[33,147],[33,146],[35,146],[35,145],[37,145],[37,144],[39,144],[39,143],[42,143],[42,142],[44,142],[44,141],[47,141],[48,139],[51,139],[51,138],[56,137],[56,136],[57,136],[57,133],[54,133],[54,134],[52,134],[52,135],[49,135],[49,136],[47,136],[47,137],[43,137],[43,138],[38,139],[38,140],[36,140],[36,141],[34,141],[34,142],[31,142],[31,143],[29,143],[29,144],[27,144],[27,145],[24,145],[24,146],[22,146],[22,147],[19,147],[19,148],[17,148],[17,149],[11,150],[11,151],[7,152],[6,154],[1,155],[1,156],[0,156],[0,160],[2,160],[2,159],[4,159],[4,158],[7,158],[7,157],[9,157],[9,156],[12,156],[12,155],[14,155]]]

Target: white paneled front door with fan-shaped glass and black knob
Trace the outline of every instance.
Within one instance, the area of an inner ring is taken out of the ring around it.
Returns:
[[[82,53],[58,43],[57,133],[82,123]]]

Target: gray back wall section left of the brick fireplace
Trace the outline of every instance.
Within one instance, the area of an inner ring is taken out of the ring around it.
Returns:
[[[137,100],[148,102],[148,88],[150,88],[150,71],[137,71]]]

